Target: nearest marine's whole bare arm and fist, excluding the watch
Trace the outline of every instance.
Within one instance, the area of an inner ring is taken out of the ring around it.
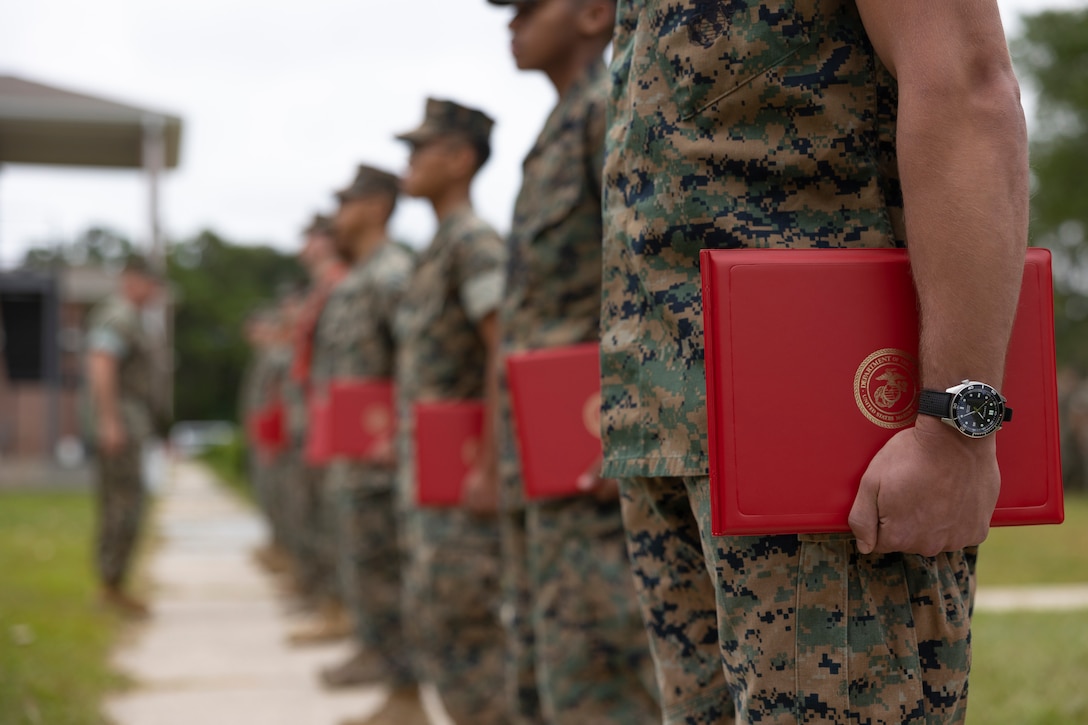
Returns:
[[[899,81],[897,144],[922,320],[922,382],[1000,386],[1027,246],[1027,134],[994,0],[857,0]],[[1012,402],[1016,405],[1016,402]],[[919,416],[862,476],[857,549],[935,556],[986,539],[993,438]]]

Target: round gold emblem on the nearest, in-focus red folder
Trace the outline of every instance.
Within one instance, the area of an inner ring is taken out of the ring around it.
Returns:
[[[857,368],[854,400],[870,422],[906,428],[918,411],[918,361],[901,349],[878,349]]]

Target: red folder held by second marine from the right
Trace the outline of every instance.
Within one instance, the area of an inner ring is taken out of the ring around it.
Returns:
[[[526,496],[578,495],[578,478],[601,457],[601,346],[506,358]]]

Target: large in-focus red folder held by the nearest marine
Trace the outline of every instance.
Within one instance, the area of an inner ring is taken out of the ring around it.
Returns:
[[[902,249],[702,253],[713,531],[849,531],[869,460],[915,417]],[[999,384],[1000,383],[1000,384]],[[994,526],[1064,517],[1050,253],[1029,249],[996,433]]]

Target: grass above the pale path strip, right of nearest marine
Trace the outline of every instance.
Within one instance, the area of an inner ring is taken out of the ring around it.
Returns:
[[[990,529],[979,551],[978,586],[1037,583],[1088,583],[1088,496],[1066,494],[1060,526]]]

